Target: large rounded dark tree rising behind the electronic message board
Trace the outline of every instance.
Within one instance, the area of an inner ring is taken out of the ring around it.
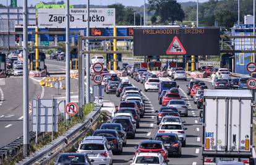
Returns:
[[[149,11],[155,11],[155,16],[160,16],[160,23],[182,21],[185,17],[181,4],[176,0],[148,0]]]

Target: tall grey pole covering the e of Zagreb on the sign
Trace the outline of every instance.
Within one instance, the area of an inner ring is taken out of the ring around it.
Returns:
[[[66,104],[70,102],[69,0],[66,0]],[[69,116],[66,114],[66,119]]]

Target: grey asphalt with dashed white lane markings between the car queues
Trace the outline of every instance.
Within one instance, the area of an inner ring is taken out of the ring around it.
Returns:
[[[171,80],[170,78],[162,78],[166,80]],[[143,85],[136,82],[134,79],[129,77],[130,82],[139,87],[143,91]],[[192,101],[192,98],[187,97],[187,83],[184,81],[177,81],[179,85],[179,93],[189,104],[189,116],[182,117],[183,121],[186,121],[185,127],[187,135],[187,145],[182,147],[181,158],[175,158],[174,156],[169,159],[168,164],[203,164],[202,160],[202,125],[199,121],[200,109],[197,109]],[[209,88],[211,88],[211,83],[205,82]],[[153,137],[158,131],[156,127],[156,113],[155,110],[159,109],[161,106],[158,104],[158,92],[148,91],[144,93],[145,99],[145,116],[140,121],[140,128],[137,129],[135,139],[127,140],[127,145],[123,148],[123,153],[114,156],[114,164],[129,164],[129,159],[134,156],[134,146],[138,145],[142,140],[148,140],[148,138]],[[119,98],[114,94],[105,95],[105,100],[113,101],[115,105],[119,104]]]

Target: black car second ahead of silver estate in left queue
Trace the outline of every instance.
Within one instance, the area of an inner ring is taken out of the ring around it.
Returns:
[[[119,134],[119,137],[122,138],[122,145],[126,145],[126,132],[122,127],[122,124],[119,123],[103,123],[100,126],[101,130],[116,130]]]

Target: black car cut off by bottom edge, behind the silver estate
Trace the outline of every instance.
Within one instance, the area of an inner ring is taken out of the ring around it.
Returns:
[[[91,165],[93,162],[94,160],[88,158],[88,155],[85,153],[62,153],[61,155],[59,155],[56,165]]]

